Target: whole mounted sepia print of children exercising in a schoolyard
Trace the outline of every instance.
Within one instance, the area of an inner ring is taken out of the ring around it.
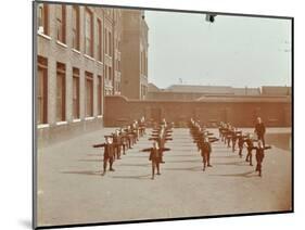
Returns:
[[[293,17],[34,1],[34,227],[293,212]]]

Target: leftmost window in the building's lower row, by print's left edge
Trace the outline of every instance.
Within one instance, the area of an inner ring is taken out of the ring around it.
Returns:
[[[48,60],[38,56],[37,123],[48,123]]]

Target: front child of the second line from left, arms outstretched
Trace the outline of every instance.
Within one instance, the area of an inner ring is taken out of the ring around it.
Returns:
[[[156,175],[161,175],[160,173],[160,163],[161,163],[161,154],[164,151],[169,151],[170,149],[168,148],[160,148],[157,142],[153,142],[152,148],[148,148],[142,150],[142,152],[150,152],[150,161],[152,162],[152,180],[154,179],[155,175],[155,169],[156,169]]]

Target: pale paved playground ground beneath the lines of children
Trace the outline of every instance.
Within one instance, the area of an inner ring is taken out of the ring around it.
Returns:
[[[189,130],[174,129],[174,140],[166,145],[171,151],[165,152],[162,175],[154,180],[149,153],[139,152],[151,146],[150,130],[115,161],[114,173],[101,176],[102,151],[91,145],[114,129],[38,149],[38,226],[291,209],[288,128],[267,129],[272,149],[266,151],[262,178],[255,173],[255,159],[249,166],[223,142],[213,144],[213,167],[202,171]]]

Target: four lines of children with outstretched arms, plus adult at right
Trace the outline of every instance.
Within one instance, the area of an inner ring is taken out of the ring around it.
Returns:
[[[255,133],[257,135],[257,140],[255,140],[250,133],[243,135],[242,130],[238,130],[229,123],[223,122],[219,124],[218,128],[219,138],[216,138],[214,133],[209,132],[199,120],[191,118],[189,122],[190,135],[198,146],[198,151],[201,152],[203,171],[206,170],[206,167],[212,167],[212,143],[221,140],[228,148],[232,149],[232,152],[236,151],[236,146],[238,145],[240,157],[242,157],[243,149],[246,149],[247,154],[245,161],[249,162],[251,166],[253,166],[252,151],[255,150],[256,171],[258,171],[258,176],[262,177],[262,163],[265,150],[270,149],[270,146],[265,145],[265,126],[262,119],[257,118],[257,122],[259,125],[255,126]],[[152,135],[149,138],[149,140],[153,141],[152,148],[141,150],[141,152],[150,153],[149,161],[152,163],[152,179],[154,179],[155,175],[161,175],[160,164],[165,163],[163,161],[163,153],[170,150],[165,148],[165,143],[173,140],[173,124],[167,124],[165,119],[155,124],[152,129]],[[102,175],[105,175],[107,164],[110,165],[110,171],[114,171],[114,161],[120,159],[122,153],[125,155],[127,150],[132,149],[139,138],[143,137],[145,133],[145,118],[141,117],[129,126],[117,129],[114,133],[105,136],[104,143],[93,145],[93,148],[104,148]],[[257,142],[257,144],[254,144],[254,142]]]

